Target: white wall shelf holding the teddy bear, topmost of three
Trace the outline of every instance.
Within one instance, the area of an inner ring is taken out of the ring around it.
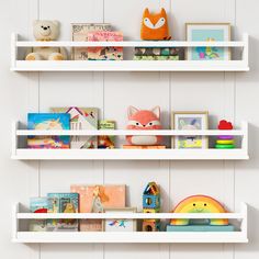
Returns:
[[[240,42],[23,42],[13,33],[11,41],[11,70],[13,71],[248,71],[248,34],[243,35]],[[91,47],[91,46],[122,46],[122,47],[240,47],[240,60],[65,60],[65,61],[25,61],[18,60],[19,48],[33,46],[64,46],[64,47]]]

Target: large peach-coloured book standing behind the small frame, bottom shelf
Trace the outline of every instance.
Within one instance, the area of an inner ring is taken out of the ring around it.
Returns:
[[[80,213],[102,213],[109,207],[124,207],[126,204],[125,185],[77,185],[71,192],[79,194]],[[80,219],[80,232],[101,232],[102,219]]]

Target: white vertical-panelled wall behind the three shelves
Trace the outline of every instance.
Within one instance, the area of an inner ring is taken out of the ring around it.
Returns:
[[[70,38],[71,22],[110,22],[125,38],[139,38],[139,20],[145,7],[165,7],[174,38],[184,38],[184,22],[230,22],[234,35],[251,35],[251,71],[224,72],[33,72],[9,71],[10,34],[32,38],[33,19],[61,22],[61,40]],[[258,65],[259,41],[256,0],[9,0],[0,3],[0,63],[2,146],[0,149],[0,251],[3,258],[97,258],[119,259],[232,259],[259,257],[258,240]],[[236,26],[235,26],[236,25]],[[50,106],[98,106],[101,117],[114,119],[120,128],[126,122],[127,105],[160,105],[165,127],[172,110],[207,110],[211,126],[226,117],[250,127],[251,159],[224,161],[11,161],[11,120],[25,121],[26,113],[46,112]],[[159,182],[162,206],[169,211],[180,199],[206,193],[230,210],[240,201],[250,204],[248,245],[15,245],[11,238],[11,205],[49,191],[68,191],[70,183],[126,183],[127,205],[142,207],[142,191],[147,181]]]

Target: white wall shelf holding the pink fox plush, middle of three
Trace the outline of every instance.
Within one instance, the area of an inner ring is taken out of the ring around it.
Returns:
[[[12,159],[20,160],[246,160],[248,156],[248,123],[243,122],[240,130],[233,131],[31,131],[20,130],[13,123]],[[241,136],[241,147],[235,149],[29,149],[19,147],[22,136],[91,136],[91,135],[162,135],[162,136]]]

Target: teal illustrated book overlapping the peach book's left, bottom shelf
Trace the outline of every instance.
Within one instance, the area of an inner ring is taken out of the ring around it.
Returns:
[[[48,213],[78,213],[78,193],[48,193]],[[78,232],[78,219],[47,219],[48,232]]]

